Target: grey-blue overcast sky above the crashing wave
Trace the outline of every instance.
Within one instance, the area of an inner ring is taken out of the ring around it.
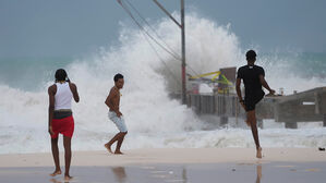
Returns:
[[[146,17],[152,0],[130,0]],[[172,12],[179,0],[159,0]],[[231,24],[242,47],[326,52],[325,0],[185,0],[186,11]],[[130,21],[116,0],[0,0],[0,58],[79,57],[118,40]],[[136,26],[134,26],[136,28]]]

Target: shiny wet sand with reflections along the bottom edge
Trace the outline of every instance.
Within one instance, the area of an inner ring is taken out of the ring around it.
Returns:
[[[50,178],[53,168],[0,168],[2,183],[63,183],[63,175]],[[325,162],[140,164],[120,167],[73,167],[70,182],[80,183],[321,183]]]

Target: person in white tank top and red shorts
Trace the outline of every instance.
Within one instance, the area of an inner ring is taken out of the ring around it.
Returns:
[[[71,110],[71,99],[80,101],[77,87],[68,78],[67,72],[62,69],[56,72],[56,83],[48,88],[49,94],[49,134],[51,135],[51,149],[56,170],[51,176],[61,174],[59,161],[58,137],[63,135],[65,172],[64,180],[70,180],[71,163],[71,138],[74,132],[74,120]]]

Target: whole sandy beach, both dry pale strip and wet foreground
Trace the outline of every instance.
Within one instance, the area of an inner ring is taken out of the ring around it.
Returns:
[[[313,148],[131,149],[116,156],[107,151],[74,151],[70,182],[323,182],[326,152]],[[63,154],[60,154],[64,170]],[[51,178],[52,156],[0,155],[0,182],[64,182]]]

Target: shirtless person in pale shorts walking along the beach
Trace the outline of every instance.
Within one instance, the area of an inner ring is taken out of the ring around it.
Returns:
[[[114,154],[122,155],[120,148],[124,136],[128,133],[123,115],[120,111],[120,89],[123,87],[124,80],[122,74],[116,74],[113,77],[114,86],[111,88],[109,96],[107,97],[105,103],[109,108],[109,119],[117,125],[120,131],[110,142],[105,144],[105,147],[109,150],[109,152],[113,154],[111,150],[111,146],[114,142],[117,142],[117,147]]]

